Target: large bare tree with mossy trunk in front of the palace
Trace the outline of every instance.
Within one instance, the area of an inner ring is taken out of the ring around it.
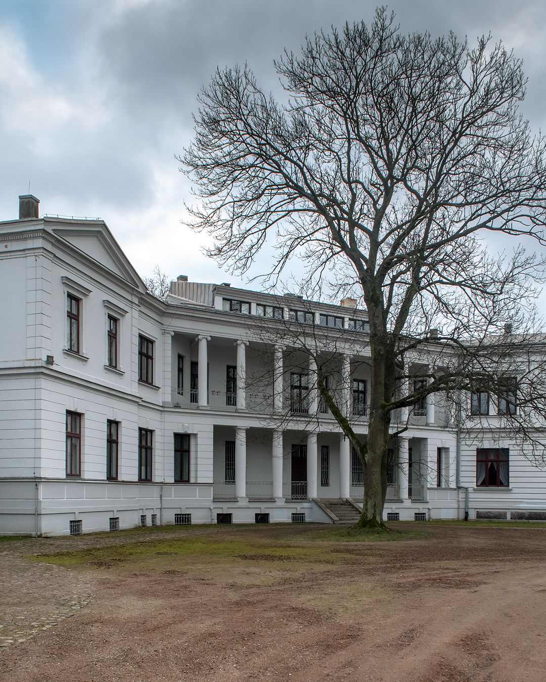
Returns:
[[[545,140],[518,110],[521,61],[490,37],[470,47],[452,33],[403,35],[383,8],[370,27],[315,34],[275,66],[282,105],[246,66],[218,70],[201,91],[195,140],[179,158],[200,200],[193,226],[233,271],[274,238],[270,277],[298,258],[306,284],[363,301],[364,442],[320,368],[317,387],[364,463],[361,523],[381,525],[394,411],[434,391],[502,391],[499,357],[510,364],[514,350],[506,323],[536,351],[530,299],[544,263],[520,242],[545,243]],[[513,254],[488,255],[484,233],[519,237]],[[422,354],[431,363],[415,389],[409,365]],[[525,401],[543,408],[543,396]]]

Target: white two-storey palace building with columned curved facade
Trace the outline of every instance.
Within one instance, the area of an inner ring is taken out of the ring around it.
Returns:
[[[34,196],[19,201],[18,220],[0,222],[0,534],[358,513],[362,464],[288,333],[309,325],[330,350],[335,336],[329,381],[364,434],[367,320],[355,301],[186,276],[162,301],[102,220],[39,218]],[[275,325],[284,342],[261,333]],[[546,472],[513,444],[461,441],[437,399],[407,421],[386,519],[546,518]]]

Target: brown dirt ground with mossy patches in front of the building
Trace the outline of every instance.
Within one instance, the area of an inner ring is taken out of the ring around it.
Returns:
[[[544,682],[546,529],[410,528],[422,537],[272,525],[2,543],[0,679]],[[83,563],[23,558],[68,550]]]

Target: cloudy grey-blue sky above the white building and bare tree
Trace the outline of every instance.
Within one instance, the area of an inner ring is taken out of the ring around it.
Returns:
[[[546,128],[543,0],[388,7],[404,31],[502,39],[529,78],[523,113]],[[246,61],[273,89],[283,48],[374,10],[369,0],[0,0],[0,219],[16,218],[30,182],[41,213],[104,218],[143,276],[158,263],[172,277],[240,283],[181,224],[192,198],[175,154],[192,136],[199,88],[217,65]]]

